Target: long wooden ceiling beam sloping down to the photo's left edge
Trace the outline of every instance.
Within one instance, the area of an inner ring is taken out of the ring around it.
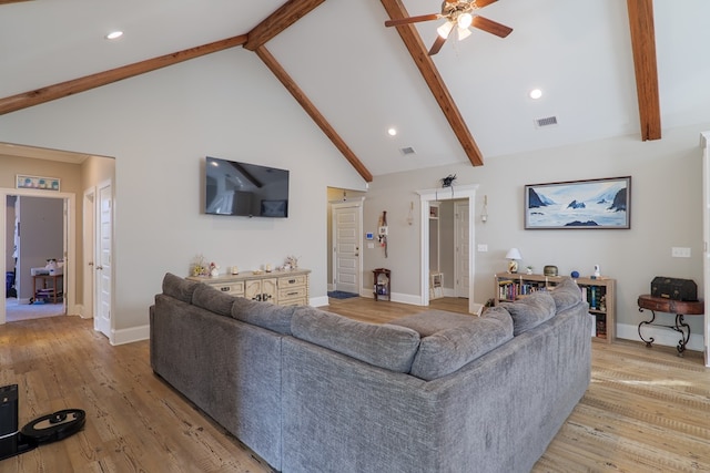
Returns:
[[[243,45],[246,42],[246,34],[227,38],[225,40],[215,41],[196,48],[186,49],[171,54],[161,55],[159,58],[149,59],[133,64],[124,65],[109,71],[99,72],[83,78],[73,79],[71,81],[61,82],[45,88],[37,89],[30,92],[23,92],[17,95],[0,99],[0,115],[16,112],[41,103],[63,99],[80,92],[100,88],[112,82],[123,79],[133,78],[146,72],[155,71],[161,68],[178,64],[179,62],[199,58],[201,55],[211,54],[230,48]]]

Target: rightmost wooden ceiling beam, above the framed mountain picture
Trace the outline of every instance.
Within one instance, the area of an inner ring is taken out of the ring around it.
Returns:
[[[661,110],[656,65],[653,0],[627,0],[641,140],[661,138]]]

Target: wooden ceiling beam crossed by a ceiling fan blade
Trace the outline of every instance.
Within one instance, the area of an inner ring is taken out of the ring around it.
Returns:
[[[389,19],[399,20],[409,17],[409,13],[405,9],[400,0],[382,0],[383,7],[387,11]],[[448,121],[454,134],[458,138],[466,156],[474,166],[483,166],[484,157],[478,148],[478,145],[474,141],[474,136],[470,134],[466,122],[462,116],[452,94],[448,92],[444,80],[439,75],[434,61],[428,54],[427,48],[424,45],[422,38],[417,33],[417,30],[413,24],[403,24],[396,27],[402,41],[407,47],[414,63],[419,69],[422,76],[429,86],[434,99],[442,107],[444,116]]]

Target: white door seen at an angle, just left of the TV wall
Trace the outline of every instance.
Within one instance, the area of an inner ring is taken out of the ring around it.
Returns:
[[[113,247],[113,189],[111,183],[99,186],[99,206],[97,219],[97,265],[95,265],[95,306],[94,328],[112,340],[112,247]]]

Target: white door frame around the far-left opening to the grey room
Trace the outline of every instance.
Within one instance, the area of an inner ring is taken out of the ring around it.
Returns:
[[[64,238],[64,248],[65,254],[64,257],[64,304],[65,304],[65,313],[78,313],[75,306],[75,294],[77,294],[77,275],[75,275],[75,249],[77,249],[77,228],[75,228],[75,217],[74,209],[77,208],[75,199],[77,196],[73,193],[67,192],[50,192],[50,191],[40,191],[40,189],[18,189],[18,188],[9,188],[9,187],[0,187],[0,198],[2,199],[2,205],[0,205],[0,228],[2,232],[0,233],[0,267],[6,268],[7,261],[4,257],[4,248],[7,246],[7,226],[8,226],[8,215],[7,215],[7,202],[9,195],[17,195],[20,197],[43,197],[43,198],[61,198],[64,200],[64,228],[67,229],[65,238]],[[6,311],[6,294],[4,290],[0,291],[0,326],[7,322],[7,311]]]

